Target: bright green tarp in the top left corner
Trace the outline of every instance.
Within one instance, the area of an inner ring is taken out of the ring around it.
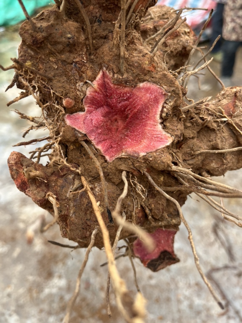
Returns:
[[[53,0],[22,1],[30,16],[35,12],[35,9],[54,3]],[[0,26],[15,25],[25,19],[25,15],[18,0],[0,0]]]

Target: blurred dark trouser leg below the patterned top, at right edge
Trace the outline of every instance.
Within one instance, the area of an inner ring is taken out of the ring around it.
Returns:
[[[235,55],[238,47],[242,44],[239,41],[225,40],[222,46],[223,51],[223,61],[221,76],[231,77],[234,71]]]

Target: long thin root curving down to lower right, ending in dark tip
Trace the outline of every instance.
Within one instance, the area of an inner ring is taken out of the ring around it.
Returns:
[[[196,252],[196,249],[195,249],[195,246],[194,246],[194,243],[193,243],[193,238],[192,238],[192,232],[191,232],[191,229],[186,221],[186,219],[184,218],[183,216],[183,213],[182,213],[182,210],[181,210],[181,206],[180,204],[176,201],[176,199],[174,199],[173,197],[171,197],[170,195],[166,194],[164,191],[162,191],[161,188],[159,188],[156,183],[153,181],[153,179],[151,178],[151,176],[143,171],[146,175],[146,177],[148,178],[148,181],[150,182],[150,184],[158,191],[160,192],[163,196],[166,197],[166,199],[170,200],[171,202],[175,203],[176,204],[176,207],[177,207],[177,210],[179,212],[179,215],[180,215],[180,218],[183,222],[183,224],[185,225],[186,229],[187,229],[187,232],[188,232],[188,239],[189,239],[189,242],[190,242],[190,245],[191,245],[191,248],[192,248],[192,253],[193,253],[193,256],[194,256],[194,261],[195,261],[195,265],[197,267],[197,270],[200,274],[200,276],[202,277],[204,283],[207,285],[211,295],[214,297],[214,299],[216,300],[218,306],[221,308],[221,309],[224,309],[224,306],[222,304],[222,302],[220,301],[220,299],[218,298],[218,296],[216,295],[213,287],[211,286],[211,284],[209,283],[209,281],[207,280],[207,277],[204,275],[200,265],[199,265],[199,258],[197,256],[197,252]]]

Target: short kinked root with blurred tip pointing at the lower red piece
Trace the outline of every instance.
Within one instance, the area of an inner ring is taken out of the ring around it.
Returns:
[[[123,193],[119,196],[115,210],[112,212],[113,218],[115,219],[117,224],[123,224],[124,228],[130,232],[133,232],[138,236],[138,238],[142,241],[142,243],[146,246],[146,249],[149,252],[152,252],[155,249],[155,244],[153,239],[149,234],[147,234],[146,231],[141,229],[139,226],[136,226],[135,224],[132,224],[128,221],[123,221],[122,217],[120,216],[120,208],[121,208],[121,203],[123,199],[126,197],[127,192],[128,192],[128,182],[126,179],[126,172],[124,171],[122,173],[122,180],[124,181],[124,190]]]

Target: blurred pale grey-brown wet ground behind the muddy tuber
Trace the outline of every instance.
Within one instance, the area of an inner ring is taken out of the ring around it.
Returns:
[[[11,65],[10,57],[17,56],[20,38],[15,31],[0,33],[0,63]],[[234,85],[242,85],[242,51],[238,53],[233,78]],[[219,73],[219,64],[212,62],[211,68]],[[204,72],[204,71],[203,71]],[[197,100],[215,96],[219,91],[217,81],[207,71],[200,75],[198,91],[197,78],[191,77],[189,96]],[[47,240],[72,244],[60,236],[58,226],[51,227],[45,234],[35,236],[32,245],[27,245],[25,232],[29,224],[43,214],[40,209],[15,187],[10,178],[7,158],[16,150],[28,156],[29,147],[12,145],[22,141],[21,134],[29,126],[25,120],[10,109],[39,116],[40,110],[31,98],[6,107],[6,103],[18,96],[20,90],[13,88],[5,93],[11,82],[13,71],[0,70],[0,136],[1,136],[1,226],[0,226],[0,323],[56,323],[62,322],[66,304],[75,287],[76,276],[85,250],[74,250],[51,245]],[[46,133],[32,133],[26,140],[45,136]],[[228,172],[218,181],[241,189],[241,171]],[[232,211],[241,214],[242,201],[225,201]],[[242,321],[242,229],[221,221],[220,214],[211,209],[196,195],[191,195],[183,207],[192,232],[203,270],[212,269],[212,284],[219,285],[220,297],[229,305],[222,311],[211,297],[199,276],[183,225],[175,237],[175,251],[180,263],[157,273],[144,268],[135,259],[139,287],[147,299],[149,323],[238,323]],[[46,214],[47,220],[51,216]],[[220,242],[218,237],[220,237]],[[120,242],[122,245],[122,242]],[[74,243],[73,243],[74,245]],[[226,247],[224,247],[225,245]],[[120,251],[122,252],[122,250]],[[123,323],[111,292],[113,318],[106,314],[105,289],[107,267],[100,267],[106,261],[105,252],[93,248],[81,282],[71,322],[77,323]],[[128,258],[117,260],[121,276],[129,289],[135,290],[133,272]],[[217,268],[217,270],[215,270]]]

